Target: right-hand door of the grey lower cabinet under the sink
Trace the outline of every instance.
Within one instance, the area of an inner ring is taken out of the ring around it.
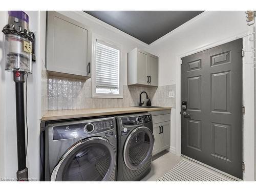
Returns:
[[[170,121],[160,123],[160,152],[170,147]]]

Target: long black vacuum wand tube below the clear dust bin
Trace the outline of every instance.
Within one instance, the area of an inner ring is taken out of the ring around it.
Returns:
[[[26,141],[25,141],[25,113],[24,113],[24,82],[25,74],[13,73],[16,94],[16,125],[17,125],[17,181],[28,181],[28,168],[26,167]]]

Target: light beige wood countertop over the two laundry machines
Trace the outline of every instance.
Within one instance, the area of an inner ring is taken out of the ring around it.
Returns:
[[[100,109],[78,109],[78,110],[53,110],[48,111],[42,116],[42,121],[73,119],[82,117],[95,117],[104,115],[117,115],[125,113],[140,113],[150,111],[171,110],[172,108],[138,108],[138,107],[123,107],[123,108],[100,108]]]

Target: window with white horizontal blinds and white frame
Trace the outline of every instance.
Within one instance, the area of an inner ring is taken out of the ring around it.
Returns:
[[[96,39],[92,73],[92,97],[122,98],[120,89],[120,49]]]

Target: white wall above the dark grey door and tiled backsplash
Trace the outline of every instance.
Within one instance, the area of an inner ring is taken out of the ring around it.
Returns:
[[[244,11],[206,11],[153,42],[151,51],[159,56],[159,85],[176,83],[178,55],[247,30]]]

